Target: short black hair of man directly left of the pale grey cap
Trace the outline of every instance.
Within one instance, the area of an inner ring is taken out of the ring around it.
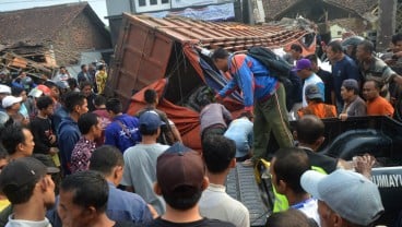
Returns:
[[[295,193],[305,193],[302,188],[302,175],[311,169],[305,151],[296,147],[280,148],[274,154],[273,170],[276,181],[283,180]]]

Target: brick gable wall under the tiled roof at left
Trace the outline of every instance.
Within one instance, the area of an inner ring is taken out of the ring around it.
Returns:
[[[76,64],[81,51],[111,48],[110,36],[91,21],[84,11],[61,29],[54,41],[59,65]]]

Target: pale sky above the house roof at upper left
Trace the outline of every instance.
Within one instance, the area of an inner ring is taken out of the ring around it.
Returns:
[[[81,0],[0,0],[0,11],[13,11],[28,9],[35,7],[49,7],[54,4],[64,4],[70,2],[80,2]],[[92,9],[99,19],[108,25],[108,21],[104,19],[107,15],[106,0],[87,0]]]

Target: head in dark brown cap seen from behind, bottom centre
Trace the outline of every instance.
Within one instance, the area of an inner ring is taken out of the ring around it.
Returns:
[[[201,155],[182,144],[174,144],[157,158],[154,190],[172,208],[194,207],[208,184]]]

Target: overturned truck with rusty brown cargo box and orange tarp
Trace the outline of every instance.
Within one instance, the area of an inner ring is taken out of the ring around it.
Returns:
[[[292,21],[250,26],[125,14],[106,91],[134,113],[144,105],[144,87],[156,88],[162,97],[158,108],[176,123],[184,143],[200,150],[198,93],[205,87],[217,91],[229,80],[215,69],[208,57],[210,50],[224,47],[234,52],[252,46],[286,49],[294,43],[300,44],[306,55],[315,52],[314,24]],[[225,101],[234,112],[241,109],[239,93]]]

